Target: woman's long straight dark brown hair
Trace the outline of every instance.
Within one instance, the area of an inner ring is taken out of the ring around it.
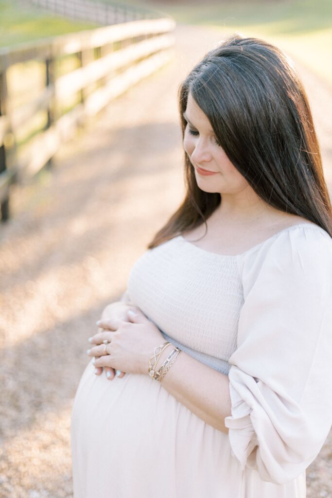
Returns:
[[[209,119],[234,167],[270,206],[310,220],[332,237],[332,208],[306,92],[292,62],[277,47],[234,34],[210,50],[178,89]],[[201,190],[184,151],[187,193],[148,249],[206,223],[221,194]]]

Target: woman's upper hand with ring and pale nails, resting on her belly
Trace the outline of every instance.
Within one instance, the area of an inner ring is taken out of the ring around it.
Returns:
[[[149,358],[154,348],[165,342],[164,336],[139,310],[127,313],[128,321],[118,318],[103,319],[99,327],[104,332],[91,338],[89,356],[94,356],[95,367],[111,367],[127,373],[148,373]],[[110,344],[103,344],[104,340]],[[107,350],[107,352],[106,352]]]

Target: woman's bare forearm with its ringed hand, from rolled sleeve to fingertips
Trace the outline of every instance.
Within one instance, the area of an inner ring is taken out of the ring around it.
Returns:
[[[154,349],[165,342],[164,336],[141,311],[132,316],[128,313],[128,320],[123,322],[111,319],[99,323],[101,328],[109,332],[92,338],[92,344],[98,346],[92,348],[89,354],[96,357],[96,367],[111,367],[122,372],[149,375],[149,358],[153,356]],[[107,354],[103,345],[105,339],[110,342]],[[174,348],[168,346],[163,351],[157,368],[160,368],[172,349]],[[161,384],[206,423],[228,433],[224,425],[224,418],[231,414],[227,375],[182,351]]]

